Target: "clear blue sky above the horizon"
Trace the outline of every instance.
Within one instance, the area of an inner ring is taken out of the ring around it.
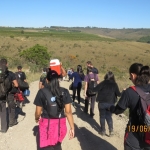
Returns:
[[[150,0],[1,0],[0,26],[150,28]]]

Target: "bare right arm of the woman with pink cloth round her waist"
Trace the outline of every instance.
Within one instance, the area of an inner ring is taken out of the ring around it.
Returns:
[[[70,125],[69,139],[72,139],[74,137],[74,121],[70,103],[65,105],[65,114]]]

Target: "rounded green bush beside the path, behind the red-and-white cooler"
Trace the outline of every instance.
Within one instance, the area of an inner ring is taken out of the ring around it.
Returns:
[[[35,46],[20,52],[20,56],[26,61],[35,64],[37,67],[47,66],[50,60],[50,55],[47,48],[36,44]]]

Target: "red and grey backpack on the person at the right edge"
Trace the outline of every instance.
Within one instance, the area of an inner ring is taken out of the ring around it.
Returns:
[[[137,116],[140,123],[139,135],[145,143],[150,144],[150,93],[137,86],[131,86],[139,96]]]

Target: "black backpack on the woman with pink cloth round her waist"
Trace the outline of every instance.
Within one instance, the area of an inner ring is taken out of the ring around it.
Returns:
[[[60,96],[60,99],[62,101],[62,103],[60,104],[58,102],[57,97],[53,96],[52,93],[47,88],[43,88],[41,90],[45,97],[45,104],[46,104],[45,108],[48,113],[48,116],[53,119],[61,118],[62,112],[64,110],[63,98],[65,93],[62,92],[62,95]],[[60,105],[63,105],[63,107],[61,107]]]

